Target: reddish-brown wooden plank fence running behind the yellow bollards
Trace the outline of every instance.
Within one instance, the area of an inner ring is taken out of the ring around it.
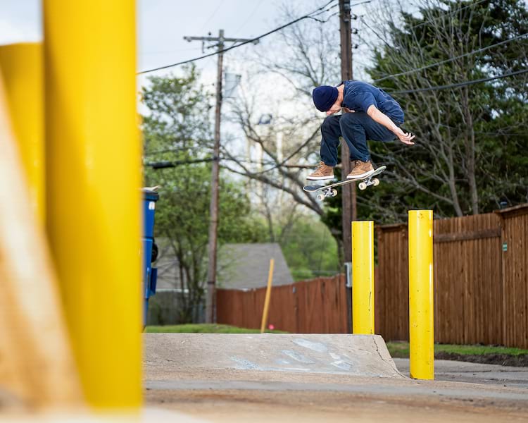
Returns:
[[[377,226],[376,333],[408,339],[407,225]],[[528,348],[528,204],[434,221],[434,338]],[[265,289],[218,290],[218,321],[260,327]],[[273,288],[270,323],[346,332],[342,276]]]

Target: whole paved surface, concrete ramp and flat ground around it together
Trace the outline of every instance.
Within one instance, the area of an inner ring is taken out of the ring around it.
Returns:
[[[276,337],[146,334],[146,404],[208,422],[528,422],[528,369],[436,360],[418,381],[379,337]]]

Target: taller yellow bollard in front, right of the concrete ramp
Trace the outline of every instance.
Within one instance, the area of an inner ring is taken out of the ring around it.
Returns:
[[[410,377],[434,379],[433,212],[409,211]]]

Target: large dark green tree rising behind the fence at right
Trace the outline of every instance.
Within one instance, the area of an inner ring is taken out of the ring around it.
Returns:
[[[463,216],[491,212],[503,200],[526,202],[526,75],[420,91],[527,68],[524,3],[425,1],[420,15],[386,16],[377,32],[384,45],[369,73],[396,92],[417,145],[371,143],[377,164],[390,170],[388,183],[362,194],[361,216],[402,220],[413,207]]]

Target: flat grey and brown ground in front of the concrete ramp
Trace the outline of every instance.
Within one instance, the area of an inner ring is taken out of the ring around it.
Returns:
[[[146,369],[146,405],[209,422],[528,422],[528,390],[226,369]]]

